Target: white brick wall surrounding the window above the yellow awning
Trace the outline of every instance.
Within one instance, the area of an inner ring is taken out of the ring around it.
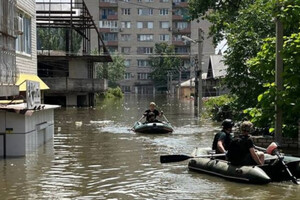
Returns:
[[[37,74],[35,0],[17,0],[19,11],[31,17],[31,55],[17,53],[16,63],[20,73]]]

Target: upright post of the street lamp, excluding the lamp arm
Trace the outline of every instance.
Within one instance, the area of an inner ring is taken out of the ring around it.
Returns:
[[[202,112],[202,54],[203,54],[203,30],[198,29],[198,115],[200,117]]]

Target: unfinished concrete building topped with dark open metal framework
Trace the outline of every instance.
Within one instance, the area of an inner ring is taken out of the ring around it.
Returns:
[[[85,0],[36,0],[38,74],[51,88],[45,102],[93,106],[106,80],[96,78],[95,63],[112,59]]]

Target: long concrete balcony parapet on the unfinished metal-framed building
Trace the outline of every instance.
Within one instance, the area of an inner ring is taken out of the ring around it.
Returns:
[[[107,80],[92,78],[41,77],[49,86],[51,93],[66,92],[103,92],[107,89]]]

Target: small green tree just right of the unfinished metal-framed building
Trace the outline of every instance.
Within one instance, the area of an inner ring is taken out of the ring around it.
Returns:
[[[117,87],[118,81],[124,79],[125,59],[120,55],[112,55],[112,60],[113,62],[108,63],[107,66],[103,63],[96,66],[97,77],[108,78],[108,86]]]

